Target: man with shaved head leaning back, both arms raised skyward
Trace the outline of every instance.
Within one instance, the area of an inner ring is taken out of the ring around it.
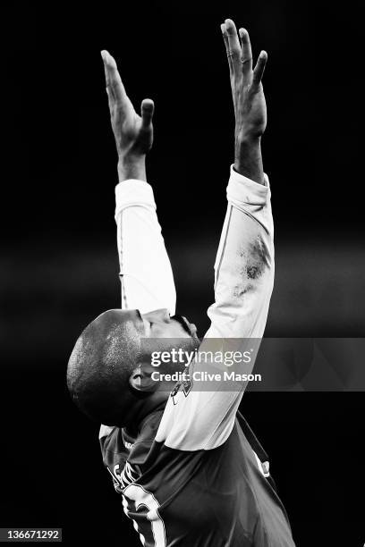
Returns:
[[[82,332],[68,385],[79,407],[106,424],[99,435],[103,460],[146,547],[294,544],[267,455],[237,412],[247,382],[235,378],[228,387],[204,388],[192,381],[197,371],[224,367],[201,365],[198,348],[222,348],[234,339],[235,349],[248,349],[262,337],[274,279],[270,189],[260,152],[267,54],[260,53],[252,70],[247,31],[238,34],[231,20],[221,29],[233,93],[235,160],[216,257],[215,303],[208,309],[211,326],[201,345],[195,325],[174,316],[173,275],[146,181],[154,105],[145,99],[141,117],[135,113],[115,60],[102,52],[119,156],[115,219],[123,309],[105,312]],[[185,355],[195,358],[188,379],[174,385],[166,376],[156,379],[151,357],[157,349],[172,351],[177,339]]]

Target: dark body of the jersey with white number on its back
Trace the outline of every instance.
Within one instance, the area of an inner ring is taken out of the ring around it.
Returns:
[[[266,453],[243,417],[216,448],[176,450],[156,440],[163,412],[145,418],[136,439],[115,427],[100,440],[145,547],[293,547]]]

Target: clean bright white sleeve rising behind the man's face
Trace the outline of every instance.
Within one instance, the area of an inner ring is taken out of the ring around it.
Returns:
[[[151,186],[129,180],[115,187],[115,222],[122,307],[175,313],[174,276],[158,223]]]

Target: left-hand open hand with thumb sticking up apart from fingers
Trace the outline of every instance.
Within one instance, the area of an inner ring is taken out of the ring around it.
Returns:
[[[101,56],[104,61],[106,93],[119,159],[123,162],[139,159],[152,147],[153,101],[144,99],[140,107],[141,115],[137,114],[125,93],[115,59],[107,51],[102,51]]]

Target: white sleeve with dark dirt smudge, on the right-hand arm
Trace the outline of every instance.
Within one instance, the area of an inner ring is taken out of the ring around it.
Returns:
[[[267,177],[264,186],[231,168],[227,199],[216,255],[215,303],[208,308],[211,326],[199,352],[220,345],[241,349],[242,353],[255,347],[256,355],[274,283],[274,228]],[[250,374],[253,365],[254,358],[245,365],[244,373]],[[196,361],[190,372],[211,372],[212,368],[223,372],[226,367],[216,363],[204,366]],[[193,381],[190,391],[182,386],[169,398],[157,441],[179,450],[209,450],[225,442],[247,382],[211,385],[214,391],[207,391]]]

